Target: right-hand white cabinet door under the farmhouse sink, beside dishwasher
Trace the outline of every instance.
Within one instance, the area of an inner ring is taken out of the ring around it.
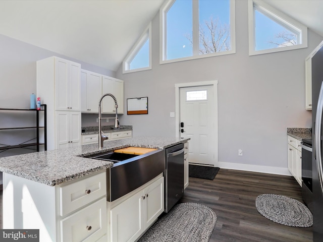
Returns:
[[[144,189],[143,223],[144,229],[149,227],[164,212],[164,177],[154,181]]]

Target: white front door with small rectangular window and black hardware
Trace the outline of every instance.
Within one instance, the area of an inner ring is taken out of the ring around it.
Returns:
[[[189,163],[218,166],[213,90],[212,85],[180,88],[180,137],[191,138]]]

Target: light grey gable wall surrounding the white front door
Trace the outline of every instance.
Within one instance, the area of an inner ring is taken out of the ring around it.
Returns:
[[[170,112],[175,111],[175,84],[218,80],[222,167],[288,174],[286,128],[311,127],[304,60],[323,37],[309,30],[308,48],[249,56],[247,13],[247,1],[236,1],[235,54],[164,65],[159,65],[157,14],[152,70],[122,74],[120,66],[117,71],[125,81],[125,98],[148,96],[148,114],[125,114],[121,124],[133,125],[133,136],[174,137],[178,124]]]

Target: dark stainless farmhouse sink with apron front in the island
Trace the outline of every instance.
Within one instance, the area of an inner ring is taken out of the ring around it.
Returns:
[[[165,150],[154,150],[143,155],[113,151],[85,158],[109,160],[114,165],[106,170],[106,200],[112,202],[134,191],[166,169]]]

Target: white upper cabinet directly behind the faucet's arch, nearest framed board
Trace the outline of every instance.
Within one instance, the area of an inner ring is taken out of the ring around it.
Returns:
[[[111,93],[117,98],[118,113],[124,113],[124,81],[102,76],[102,95]],[[112,98],[104,97],[102,100],[102,113],[116,113],[115,102]]]

